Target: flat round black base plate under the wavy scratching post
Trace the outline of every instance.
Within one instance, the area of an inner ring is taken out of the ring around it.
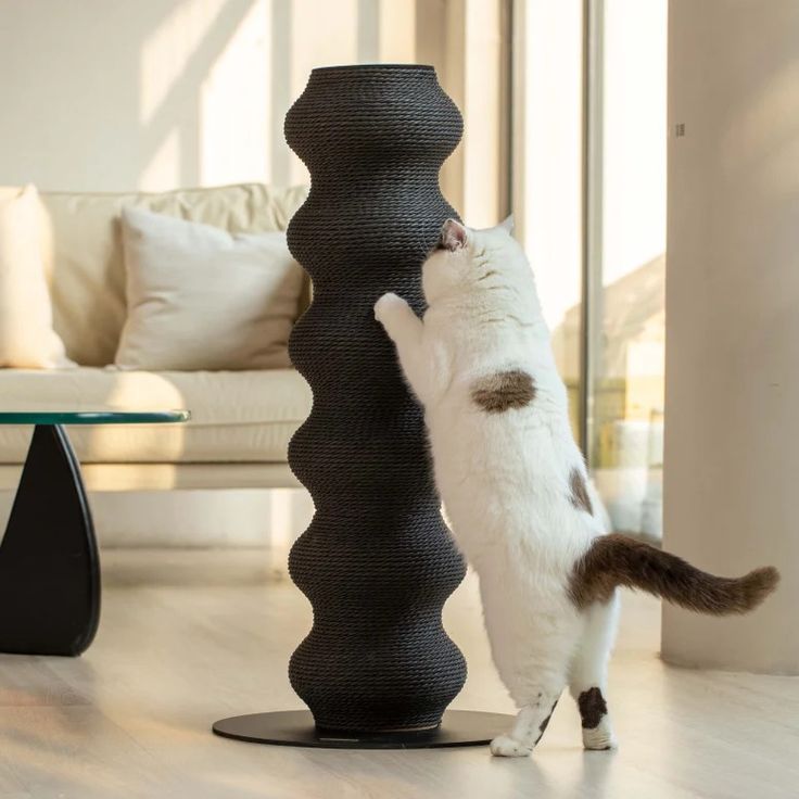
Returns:
[[[339,733],[317,730],[307,710],[252,713],[223,719],[214,732],[224,738],[252,744],[302,746],[317,749],[433,749],[437,747],[480,746],[506,733],[512,715],[447,710],[433,730],[392,733]]]

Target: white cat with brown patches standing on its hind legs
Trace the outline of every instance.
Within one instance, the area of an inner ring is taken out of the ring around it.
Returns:
[[[499,676],[519,713],[491,744],[524,756],[566,687],[583,745],[614,746],[607,671],[618,587],[705,613],[744,613],[776,586],[771,567],[708,574],[607,534],[569,423],[533,275],[506,226],[449,219],[422,268],[423,319],[395,294],[375,316],[424,406],[435,481],[452,532],[480,579]]]

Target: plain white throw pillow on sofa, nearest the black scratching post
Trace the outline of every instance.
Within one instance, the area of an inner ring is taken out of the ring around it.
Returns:
[[[286,233],[239,233],[136,207],[122,213],[128,316],[122,369],[290,365],[303,276]]]

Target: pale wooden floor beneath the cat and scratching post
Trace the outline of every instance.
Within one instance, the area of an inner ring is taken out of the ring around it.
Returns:
[[[152,557],[157,557],[153,555]],[[454,707],[510,711],[473,583],[447,606],[469,680]],[[299,707],[286,662],[309,613],[289,582],[109,587],[79,659],[0,656],[0,797],[799,796],[799,680],[669,668],[657,603],[625,597],[610,692],[621,748],[583,752],[561,701],[531,759],[486,749],[263,747],[213,736],[221,716]]]

